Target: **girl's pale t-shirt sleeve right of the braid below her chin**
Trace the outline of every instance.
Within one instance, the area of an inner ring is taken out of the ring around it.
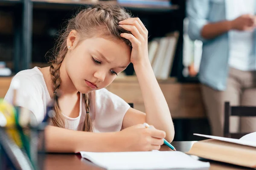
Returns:
[[[99,131],[111,132],[121,130],[125,113],[130,108],[130,105],[105,88],[95,91],[94,101],[95,121]]]

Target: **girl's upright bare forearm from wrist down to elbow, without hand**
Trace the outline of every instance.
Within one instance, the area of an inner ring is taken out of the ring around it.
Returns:
[[[155,128],[166,132],[166,140],[172,142],[175,134],[171,113],[163,92],[154,76],[151,64],[148,61],[134,65],[143,101],[145,104],[146,122]]]

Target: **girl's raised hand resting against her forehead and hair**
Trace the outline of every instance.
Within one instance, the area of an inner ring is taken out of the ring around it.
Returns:
[[[148,30],[141,20],[139,18],[128,18],[120,21],[119,24],[119,26],[132,33],[121,34],[121,37],[131,41],[131,62],[137,65],[148,60]]]

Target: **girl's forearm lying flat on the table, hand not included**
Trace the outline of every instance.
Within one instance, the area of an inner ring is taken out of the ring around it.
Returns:
[[[91,133],[68,130],[61,127],[47,126],[45,129],[45,143],[47,152],[76,153],[109,152],[120,148],[115,144],[115,133]]]

